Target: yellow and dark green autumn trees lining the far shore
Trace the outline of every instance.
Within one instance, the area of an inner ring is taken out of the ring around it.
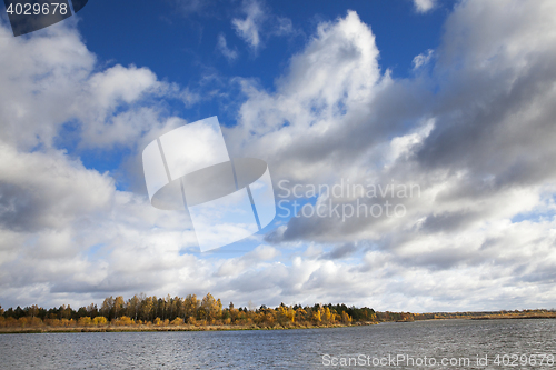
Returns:
[[[236,308],[232,302],[224,307],[221,300],[207,293],[202,298],[188,294],[185,298],[166,298],[136,294],[128,300],[122,296],[108,297],[98,307],[91,303],[77,310],[69,304],[44,309],[37,304],[3,310],[0,306],[0,327],[76,327],[76,326],[132,326],[132,324],[240,324],[240,326],[302,326],[335,324],[376,321],[380,318],[371,308],[340,304],[286,306],[276,308]],[[394,319],[399,319],[396,316]]]

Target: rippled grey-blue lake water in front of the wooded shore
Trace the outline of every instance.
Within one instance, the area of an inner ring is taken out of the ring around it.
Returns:
[[[496,356],[522,357],[495,364]],[[537,356],[532,364],[530,356]],[[437,320],[369,327],[0,336],[0,369],[556,369],[556,320]],[[488,364],[477,364],[477,356]],[[393,363],[393,359],[404,360]],[[434,358],[437,366],[418,362]],[[441,359],[470,360],[443,367]],[[365,359],[365,362],[363,361]],[[385,364],[385,359],[390,359]],[[379,361],[383,361],[380,364]],[[525,360],[525,362],[523,362]],[[375,366],[373,364],[375,361]],[[378,361],[378,362],[377,362]],[[334,366],[334,364],[338,366]],[[361,366],[365,363],[365,366]],[[512,366],[515,364],[515,366]]]

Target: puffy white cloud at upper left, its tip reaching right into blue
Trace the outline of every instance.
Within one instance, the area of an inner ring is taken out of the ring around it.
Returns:
[[[147,68],[117,64],[96,71],[95,54],[75,30],[63,24],[48,30],[42,37],[13,38],[0,28],[6,56],[0,61],[0,141],[19,149],[50,148],[62,126],[78,120],[81,147],[132,146],[162,124],[156,108],[139,104],[143,98],[199,100],[188,89],[158,81]]]

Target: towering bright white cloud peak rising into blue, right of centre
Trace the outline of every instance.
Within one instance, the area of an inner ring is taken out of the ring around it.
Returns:
[[[240,126],[228,132],[242,148],[231,150],[257,153],[275,172],[297,180],[328,176],[326,163],[335,148],[350,146],[350,130],[361,124],[357,117],[388,83],[377,58],[375,37],[355,12],[320,24],[306,49],[292,57],[276,93],[242,82],[249,99],[239,110]],[[310,140],[318,137],[330,141]]]

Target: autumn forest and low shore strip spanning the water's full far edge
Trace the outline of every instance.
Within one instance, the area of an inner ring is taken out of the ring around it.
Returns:
[[[386,321],[411,322],[435,319],[512,319],[555,318],[554,310],[489,311],[489,312],[376,312],[371,308],[339,304],[286,306],[265,304],[236,308],[232,302],[224,307],[221,300],[207,293],[185,298],[157,298],[136,294],[128,300],[122,296],[106,298],[102,304],[91,303],[77,310],[69,304],[44,309],[37,304],[16,309],[0,306],[0,331],[37,329],[38,331],[105,331],[133,330],[203,330],[214,329],[288,329],[373,324]],[[26,330],[23,330],[26,331]]]

